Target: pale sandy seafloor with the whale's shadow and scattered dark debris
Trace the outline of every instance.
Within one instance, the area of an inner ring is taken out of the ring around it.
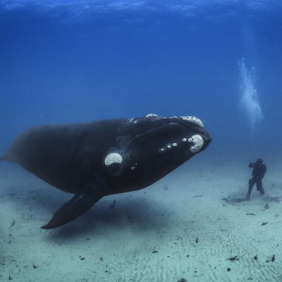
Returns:
[[[195,157],[47,231],[40,226],[71,194],[1,163],[0,281],[282,281],[282,202],[268,198],[282,196],[281,165],[268,168],[266,197],[254,188],[250,202],[230,203],[222,199],[247,191],[247,164]]]

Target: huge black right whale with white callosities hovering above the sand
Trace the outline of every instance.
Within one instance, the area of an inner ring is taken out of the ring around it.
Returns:
[[[20,133],[0,159],[75,194],[42,228],[56,228],[106,195],[140,190],[202,152],[212,138],[192,116],[41,125]]]

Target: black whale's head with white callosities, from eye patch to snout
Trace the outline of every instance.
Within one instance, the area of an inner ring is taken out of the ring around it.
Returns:
[[[130,137],[121,138],[118,152],[106,155],[109,166],[118,168],[117,185],[136,190],[151,185],[207,148],[212,137],[199,118],[162,117],[149,114],[128,120]]]

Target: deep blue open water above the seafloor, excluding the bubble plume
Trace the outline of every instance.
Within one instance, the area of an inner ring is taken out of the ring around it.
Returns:
[[[215,162],[278,158],[279,2],[1,1],[0,153],[31,125],[154,113],[202,119]],[[253,133],[243,57],[264,114]]]

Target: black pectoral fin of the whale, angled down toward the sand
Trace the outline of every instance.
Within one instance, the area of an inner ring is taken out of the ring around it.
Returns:
[[[63,204],[54,214],[51,221],[42,226],[42,229],[51,229],[62,226],[81,214],[87,212],[95,202],[98,202],[104,196],[103,192],[94,185],[86,185],[78,194],[75,194]]]

